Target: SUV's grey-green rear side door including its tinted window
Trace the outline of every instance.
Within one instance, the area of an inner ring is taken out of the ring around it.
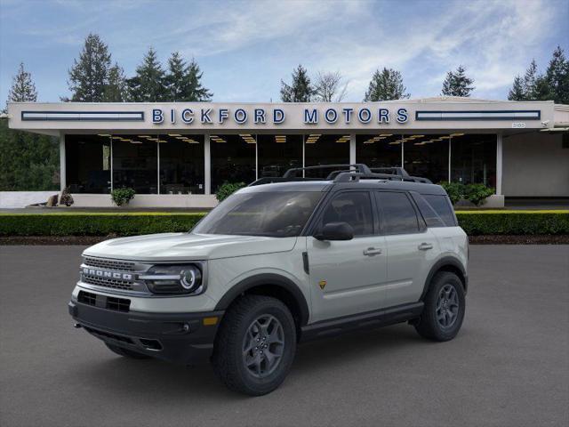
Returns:
[[[417,302],[438,253],[437,238],[427,229],[407,192],[376,191],[375,197],[387,246],[386,304],[393,307]]]

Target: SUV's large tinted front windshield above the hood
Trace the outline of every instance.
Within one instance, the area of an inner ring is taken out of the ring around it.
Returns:
[[[213,209],[192,233],[271,238],[298,236],[320,197],[319,191],[234,194]]]

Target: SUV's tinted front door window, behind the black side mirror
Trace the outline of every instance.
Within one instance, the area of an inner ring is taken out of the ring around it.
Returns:
[[[373,234],[372,203],[365,191],[340,193],[326,206],[322,225],[328,222],[348,222],[354,229],[354,236]]]

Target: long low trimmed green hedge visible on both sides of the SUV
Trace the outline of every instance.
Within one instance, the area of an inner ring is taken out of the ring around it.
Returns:
[[[188,231],[202,213],[0,214],[0,236],[133,236]],[[459,211],[469,236],[569,234],[569,211]]]

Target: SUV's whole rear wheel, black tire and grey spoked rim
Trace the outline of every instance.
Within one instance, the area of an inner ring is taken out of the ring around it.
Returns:
[[[417,332],[429,340],[452,340],[461,329],[466,309],[461,279],[448,271],[437,273],[424,302],[421,318],[415,324]]]

